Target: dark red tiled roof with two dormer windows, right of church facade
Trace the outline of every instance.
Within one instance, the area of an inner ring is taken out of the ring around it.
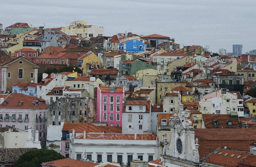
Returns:
[[[205,128],[238,128],[238,119],[232,119],[230,114],[203,114]],[[214,120],[218,121],[218,126],[214,126]],[[232,126],[228,126],[228,121],[232,121]]]

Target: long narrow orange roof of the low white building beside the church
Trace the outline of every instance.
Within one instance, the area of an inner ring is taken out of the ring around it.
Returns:
[[[157,134],[137,134],[136,140],[156,140]],[[75,139],[83,139],[84,134]],[[134,134],[87,134],[86,139],[134,140]]]

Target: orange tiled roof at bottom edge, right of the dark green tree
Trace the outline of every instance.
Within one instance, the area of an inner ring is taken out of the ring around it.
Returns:
[[[54,166],[54,167],[93,167],[98,165],[97,163],[91,163],[91,162],[86,162],[86,161],[80,161],[76,159],[70,159],[70,158],[65,158],[65,159],[60,159],[56,161],[50,161],[50,162],[44,162],[42,165],[47,165],[47,166]]]

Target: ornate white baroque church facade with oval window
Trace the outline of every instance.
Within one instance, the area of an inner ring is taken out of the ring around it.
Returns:
[[[195,167],[199,166],[198,139],[195,139],[195,129],[188,119],[189,110],[175,112],[170,120],[170,141],[164,138],[163,167]]]

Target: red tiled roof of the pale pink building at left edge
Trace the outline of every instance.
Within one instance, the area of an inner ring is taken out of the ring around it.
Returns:
[[[35,103],[35,101],[38,101],[39,104],[32,104]],[[4,105],[4,102],[7,102],[7,104]],[[4,102],[0,104],[0,108],[47,108],[47,105],[44,103],[44,99],[28,96],[23,93],[11,93],[7,98],[4,99]],[[19,105],[19,102],[22,102],[21,105]]]

